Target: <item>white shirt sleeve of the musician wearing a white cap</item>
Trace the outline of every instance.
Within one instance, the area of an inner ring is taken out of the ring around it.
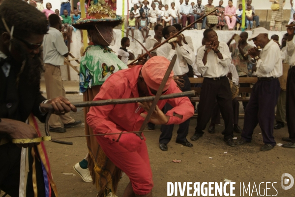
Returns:
[[[275,63],[277,62],[276,53],[277,51],[270,48],[269,51],[267,51],[265,60],[259,59],[257,61],[256,68],[259,69],[259,71],[262,73],[265,73],[265,74],[270,73],[274,69]]]

